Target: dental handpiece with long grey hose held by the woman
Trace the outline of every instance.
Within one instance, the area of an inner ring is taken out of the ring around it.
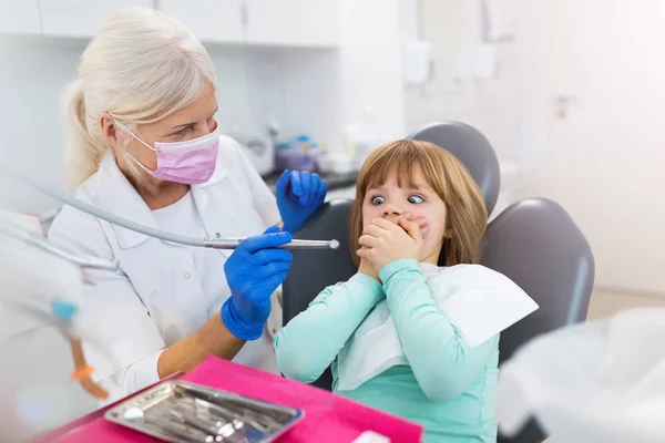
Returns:
[[[69,197],[69,196],[64,195],[63,193],[53,190],[53,189],[47,187],[45,185],[42,185],[42,184],[38,183],[37,181],[25,176],[24,174],[17,172],[17,171],[11,171],[7,167],[0,166],[0,173],[3,173],[23,184],[27,184],[27,185],[33,187],[34,189],[37,189],[50,197],[63,203],[63,204],[70,205],[79,210],[82,210],[84,213],[93,215],[98,218],[101,218],[101,219],[112,223],[114,225],[122,226],[123,228],[126,228],[126,229],[130,229],[130,230],[133,230],[133,231],[136,231],[140,234],[144,234],[150,237],[158,238],[164,241],[170,241],[170,243],[175,243],[175,244],[181,244],[181,245],[186,245],[186,246],[201,247],[201,248],[235,249],[245,239],[245,238],[203,238],[203,239],[201,239],[201,238],[196,238],[196,237],[188,237],[188,236],[183,236],[183,235],[178,235],[178,234],[172,234],[172,233],[167,233],[167,231],[164,231],[161,229],[154,229],[154,228],[151,228],[150,226],[144,226],[144,225],[137,224],[135,222],[127,220],[126,218],[119,217],[115,214],[110,213],[104,209],[101,209],[96,206],[90,205],[88,203],[81,202],[81,200],[72,198],[72,197]],[[339,248],[339,241],[337,241],[335,239],[332,239],[332,240],[294,239],[293,241],[290,241],[286,245],[278,246],[278,248],[284,248],[284,249],[337,249],[337,248]]]

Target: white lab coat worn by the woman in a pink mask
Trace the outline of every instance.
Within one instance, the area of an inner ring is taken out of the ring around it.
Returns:
[[[215,173],[207,183],[193,185],[191,192],[208,237],[258,235],[279,222],[275,196],[242,147],[227,136],[219,138]],[[80,186],[76,198],[160,228],[111,153]],[[181,231],[186,233],[186,227]],[[95,380],[104,379],[106,384],[113,373],[187,337],[208,320],[202,281],[186,247],[112,225],[69,206],[54,219],[49,238],[74,251],[120,262],[117,272],[95,274],[95,286],[82,307],[83,324],[96,336],[94,346],[85,346],[89,363],[96,369]],[[218,250],[219,272],[215,278],[219,281],[214,286],[218,287],[215,298],[219,303],[231,295],[223,267],[231,253]],[[264,334],[272,337],[280,327],[282,308],[273,297]],[[253,343],[241,351],[245,360],[262,367],[263,360],[274,359],[272,354],[247,356]],[[274,352],[263,349],[262,353]],[[106,387],[114,398],[129,393],[117,385]]]

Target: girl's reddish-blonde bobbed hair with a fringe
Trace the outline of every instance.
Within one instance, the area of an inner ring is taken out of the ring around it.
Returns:
[[[416,171],[446,204],[446,229],[439,266],[478,264],[481,239],[488,223],[488,212],[467,168],[448,151],[432,143],[399,140],[372,152],[358,175],[356,202],[349,217],[349,240],[356,264],[358,238],[362,234],[362,203],[367,189],[381,186],[389,174],[397,175],[398,186],[415,187]]]

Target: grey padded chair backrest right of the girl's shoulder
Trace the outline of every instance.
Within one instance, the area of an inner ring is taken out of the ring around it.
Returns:
[[[595,275],[593,254],[559,204],[526,198],[511,205],[489,224],[484,247],[482,264],[512,279],[540,307],[501,333],[501,362],[534,337],[584,321]],[[520,434],[499,442],[540,443],[544,437],[531,421]]]

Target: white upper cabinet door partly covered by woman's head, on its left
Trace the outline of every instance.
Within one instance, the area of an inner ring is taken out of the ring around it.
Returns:
[[[152,8],[152,0],[39,0],[42,31],[45,35],[92,38],[117,10],[130,7]]]

